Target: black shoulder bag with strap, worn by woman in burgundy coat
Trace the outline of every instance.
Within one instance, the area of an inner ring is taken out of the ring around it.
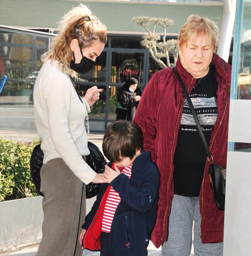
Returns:
[[[216,203],[216,206],[219,210],[224,211],[225,209],[225,193],[226,193],[226,174],[227,174],[227,169],[226,167],[222,167],[216,163],[214,163],[214,159],[210,153],[209,147],[207,145],[204,133],[200,127],[199,124],[199,120],[196,114],[196,111],[194,109],[193,103],[189,97],[189,94],[185,88],[185,84],[182,81],[176,67],[173,67],[173,71],[175,72],[176,76],[178,77],[178,80],[180,82],[180,85],[182,86],[182,89],[185,93],[186,99],[188,101],[188,104],[190,106],[190,109],[192,111],[192,114],[194,116],[198,131],[199,131],[199,135],[201,137],[201,140],[203,142],[206,154],[207,154],[207,158],[208,161],[210,162],[210,166],[209,166],[209,175],[210,175],[210,185],[212,187],[213,190],[213,194],[214,194],[214,200]]]

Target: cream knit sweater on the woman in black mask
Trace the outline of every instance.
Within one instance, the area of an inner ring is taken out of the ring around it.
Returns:
[[[67,74],[58,62],[43,64],[34,85],[34,117],[43,163],[62,158],[73,173],[85,184],[91,182],[96,172],[83,160],[90,154],[84,120],[90,107],[82,104]]]

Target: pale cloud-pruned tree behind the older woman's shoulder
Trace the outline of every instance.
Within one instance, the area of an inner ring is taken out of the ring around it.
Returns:
[[[166,41],[166,27],[173,25],[174,21],[168,18],[151,18],[147,16],[138,16],[133,17],[132,21],[136,24],[145,28],[148,32],[147,35],[142,36],[142,41],[140,44],[147,48],[152,56],[152,58],[156,61],[156,63],[161,68],[166,68],[174,65],[178,58],[178,45],[177,40],[171,39]],[[148,26],[153,24],[153,31],[150,31]],[[163,36],[155,34],[156,26],[162,26],[164,29]],[[170,63],[169,56],[172,55],[174,58],[174,62]],[[167,65],[161,60],[161,58],[166,58]]]

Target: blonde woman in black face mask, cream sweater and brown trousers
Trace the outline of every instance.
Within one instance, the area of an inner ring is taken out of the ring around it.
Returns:
[[[80,256],[79,223],[84,221],[85,189],[103,182],[84,161],[90,152],[84,120],[99,98],[96,86],[83,98],[70,75],[86,73],[95,65],[107,42],[106,26],[80,4],[62,17],[52,48],[34,87],[34,116],[44,152],[41,192],[44,220],[37,256]]]

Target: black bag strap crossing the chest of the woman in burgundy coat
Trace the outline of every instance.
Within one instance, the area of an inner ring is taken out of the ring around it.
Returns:
[[[187,90],[186,90],[186,88],[185,88],[185,84],[184,84],[183,80],[181,79],[181,77],[180,77],[180,75],[179,75],[179,73],[178,73],[176,67],[173,67],[173,71],[174,71],[175,75],[178,77],[178,80],[179,80],[179,82],[180,82],[180,85],[182,86],[182,89],[183,89],[183,91],[184,91],[184,93],[185,93],[186,99],[187,99],[187,101],[188,101],[188,104],[189,104],[190,109],[191,109],[191,111],[192,111],[192,114],[193,114],[193,116],[194,116],[194,120],[195,120],[195,122],[196,122],[198,131],[199,131],[200,138],[201,138],[202,143],[203,143],[203,145],[204,145],[204,148],[205,148],[205,151],[206,151],[208,160],[210,161],[209,158],[212,158],[212,160],[213,160],[213,157],[212,157],[212,155],[211,155],[211,153],[210,153],[210,150],[209,150],[209,147],[208,147],[208,145],[207,145],[207,141],[206,141],[205,135],[204,135],[204,133],[203,133],[203,131],[202,131],[202,129],[201,129],[201,126],[200,126],[200,124],[199,124],[199,119],[198,119],[198,116],[197,116],[196,111],[195,111],[195,109],[194,109],[193,103],[192,103],[192,101],[191,101],[191,99],[190,99],[190,97],[189,97],[189,94],[188,94],[188,92],[187,92]]]

